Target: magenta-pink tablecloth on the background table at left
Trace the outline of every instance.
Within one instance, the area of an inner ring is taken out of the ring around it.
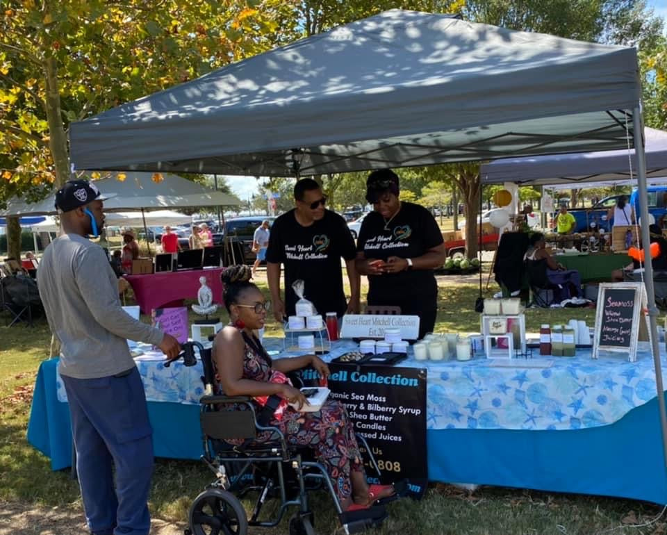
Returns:
[[[222,281],[224,268],[154,273],[150,275],[125,275],[134,290],[134,297],[143,314],[179,299],[197,299],[201,284],[199,277],[206,277],[213,291],[213,302],[222,304]]]

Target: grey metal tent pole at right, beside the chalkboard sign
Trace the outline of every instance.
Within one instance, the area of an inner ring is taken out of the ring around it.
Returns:
[[[646,161],[644,155],[643,124],[641,120],[641,108],[636,107],[632,112],[632,128],[634,130],[634,152],[637,156],[637,188],[639,192],[639,211],[641,213],[641,242],[646,249],[650,243],[648,231],[648,195],[646,192]],[[658,407],[660,409],[660,427],[662,431],[662,448],[664,463],[667,466],[667,410],[665,409],[664,386],[662,384],[662,366],[660,362],[660,347],[658,343],[657,316],[658,308],[655,306],[655,293],[653,285],[653,266],[650,262],[644,264],[644,281],[646,294],[648,296],[648,320],[650,326],[650,340],[652,345],[653,363],[655,366],[655,387],[658,396]],[[667,503],[667,498],[665,500]]]

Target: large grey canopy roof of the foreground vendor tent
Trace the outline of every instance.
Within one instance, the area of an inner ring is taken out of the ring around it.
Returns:
[[[639,96],[634,49],[390,10],[76,122],[72,162],[288,176],[616,149]]]

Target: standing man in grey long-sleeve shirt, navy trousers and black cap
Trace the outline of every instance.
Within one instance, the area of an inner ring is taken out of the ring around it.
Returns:
[[[121,308],[104,250],[86,239],[104,225],[99,190],[85,180],[69,181],[56,193],[56,208],[63,235],[44,251],[38,285],[60,340],[58,370],[69,401],[86,520],[95,535],[147,535],[152,429],[126,338],[160,347],[168,360],[181,348]]]

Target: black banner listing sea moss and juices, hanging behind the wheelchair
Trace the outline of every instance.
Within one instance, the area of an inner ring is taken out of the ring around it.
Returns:
[[[412,497],[421,497],[428,482],[425,368],[329,364],[329,397],[343,402],[372,450],[381,477],[369,466],[370,483],[409,480]],[[304,383],[317,384],[315,370],[302,370]]]

